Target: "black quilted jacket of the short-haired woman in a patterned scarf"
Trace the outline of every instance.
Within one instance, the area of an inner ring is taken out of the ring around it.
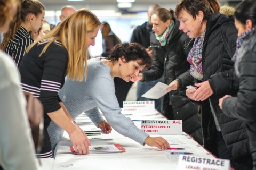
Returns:
[[[206,33],[203,44],[203,80],[209,80],[214,94],[202,102],[202,128],[204,135],[204,146],[216,154],[214,146],[214,131],[216,130],[210,102],[213,111],[220,124],[221,133],[230,151],[231,159],[237,163],[243,163],[250,159],[249,140],[245,130],[245,123],[236,118],[226,116],[221,111],[219,99],[226,94],[234,94],[231,86],[234,63],[226,52],[221,39],[221,27],[233,54],[236,48],[237,30],[231,18],[215,13],[207,19]]]

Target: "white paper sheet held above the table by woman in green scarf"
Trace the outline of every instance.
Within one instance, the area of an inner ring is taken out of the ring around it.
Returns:
[[[156,83],[156,85],[148,90],[145,94],[143,94],[141,97],[145,98],[150,98],[150,99],[159,99],[160,97],[164,96],[167,94],[167,92],[171,91],[166,91],[165,89],[168,87],[167,84],[164,84],[162,82]]]

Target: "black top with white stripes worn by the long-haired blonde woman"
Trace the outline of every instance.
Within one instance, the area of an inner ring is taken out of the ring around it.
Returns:
[[[50,123],[51,120],[46,113],[61,108],[58,92],[65,82],[68,52],[61,43],[55,41],[39,57],[47,42],[49,40],[42,40],[31,48],[23,57],[19,70],[22,90],[41,100],[44,106],[45,123]]]

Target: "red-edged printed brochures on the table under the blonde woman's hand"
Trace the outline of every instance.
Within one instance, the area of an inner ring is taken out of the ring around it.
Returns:
[[[76,152],[73,146],[70,146],[70,150],[71,152],[73,152],[73,154],[79,155],[79,152]],[[125,148],[120,144],[89,146],[89,154],[116,153],[116,152],[125,152]]]

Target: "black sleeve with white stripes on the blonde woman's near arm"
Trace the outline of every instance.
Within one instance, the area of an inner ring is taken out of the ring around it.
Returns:
[[[43,75],[40,84],[40,97],[46,113],[60,109],[58,92],[65,80],[68,63],[66,50],[57,45],[50,45],[42,56],[44,60]],[[66,52],[66,53],[65,53]]]

